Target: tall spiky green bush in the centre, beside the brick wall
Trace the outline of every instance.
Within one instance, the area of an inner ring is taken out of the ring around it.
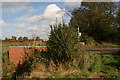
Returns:
[[[48,58],[55,63],[73,60],[79,57],[77,31],[67,25],[51,26],[48,41]]]

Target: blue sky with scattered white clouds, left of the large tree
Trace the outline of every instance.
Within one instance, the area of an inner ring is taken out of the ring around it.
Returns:
[[[79,6],[78,2],[2,2],[0,39],[11,36],[31,38],[32,35],[48,39],[50,25],[56,19],[61,22],[62,16],[68,23],[70,16],[66,13]]]

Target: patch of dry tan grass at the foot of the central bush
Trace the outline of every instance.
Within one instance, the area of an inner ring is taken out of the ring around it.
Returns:
[[[59,78],[64,77],[67,74],[78,74],[80,70],[69,69],[66,70],[63,65],[58,66],[57,68],[55,65],[51,64],[48,68],[43,63],[38,63],[35,65],[35,68],[30,73],[30,78],[47,78],[52,76],[55,73],[60,73]],[[54,77],[54,76],[53,76]]]

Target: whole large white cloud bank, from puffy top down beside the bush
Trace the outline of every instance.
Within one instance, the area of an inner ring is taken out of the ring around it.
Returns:
[[[64,9],[59,8],[56,4],[50,4],[45,8],[43,14],[18,19],[33,25],[28,31],[33,31],[37,36],[47,38],[46,36],[50,32],[50,25],[56,22],[56,18],[57,22],[61,22],[64,14]]]

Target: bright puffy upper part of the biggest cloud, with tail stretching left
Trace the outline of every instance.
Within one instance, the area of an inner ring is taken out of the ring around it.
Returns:
[[[56,18],[59,20],[64,16],[65,12],[55,4],[48,5],[43,14],[36,15],[25,19],[26,22],[41,24],[55,21]]]

